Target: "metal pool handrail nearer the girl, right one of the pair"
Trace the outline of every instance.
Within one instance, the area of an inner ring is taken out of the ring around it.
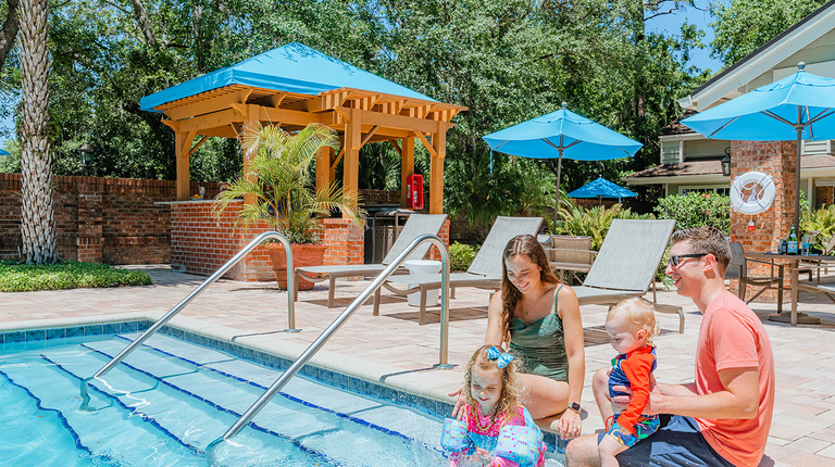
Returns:
[[[207,446],[205,452],[207,455],[210,455],[211,450],[219,443],[228,440],[229,438],[234,437],[247,424],[249,424],[252,418],[254,418],[256,415],[258,415],[259,412],[261,412],[262,408],[264,408],[264,405],[266,405],[270,400],[273,399],[276,392],[278,392],[284,384],[289,381],[290,378],[292,378],[296,373],[304,366],[306,363],[322,348],[322,345],[325,344],[325,342],[331,338],[331,336],[334,335],[341,326],[345,324],[345,321],[353,315],[353,313],[359,308],[365,300],[371,296],[372,293],[374,293],[382,285],[383,282],[398,268],[400,265],[407,260],[409,254],[414,250],[419,244],[428,241],[435,244],[435,247],[438,248],[440,251],[440,261],[441,261],[441,280],[440,280],[440,287],[441,287],[441,299],[440,299],[440,355],[439,355],[439,363],[435,365],[436,368],[447,369],[451,368],[452,365],[449,365],[447,363],[447,353],[448,353],[448,344],[447,344],[447,335],[449,332],[449,251],[447,250],[447,245],[441,241],[438,237],[434,235],[422,235],[418,237],[416,239],[412,240],[411,243],[395,258],[395,261],[391,262],[383,272],[374,278],[374,280],[369,285],[369,287],[365,288],[365,290],[360,293],[360,295],[351,302],[350,305],[348,305],[345,311],[339,314],[339,316],[334,319],[333,323],[331,323],[331,326],[328,326],[322,333],[316,338],[316,340],[308,346],[308,349],[302,352],[301,355],[299,355],[298,358],[296,358],[296,362],[290,365],[289,368],[287,368],[278,379],[273,382],[272,386],[261,395],[261,397],[256,401],[251,407],[247,409],[247,412],[244,413],[244,415],[238,418],[238,421],[236,421],[232,427],[229,427],[228,430],[223,434],[223,437],[212,441],[209,446]]]

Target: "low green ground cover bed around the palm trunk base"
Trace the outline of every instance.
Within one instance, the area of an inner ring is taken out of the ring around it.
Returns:
[[[0,292],[150,286],[151,277],[138,270],[100,263],[67,261],[59,264],[16,264],[0,261]]]

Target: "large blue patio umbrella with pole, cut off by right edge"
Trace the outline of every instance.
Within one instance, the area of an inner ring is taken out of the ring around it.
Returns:
[[[800,140],[835,139],[835,79],[803,71],[682,121],[715,139],[797,139],[796,187],[800,187]],[[795,231],[800,231],[800,197],[795,193]]]

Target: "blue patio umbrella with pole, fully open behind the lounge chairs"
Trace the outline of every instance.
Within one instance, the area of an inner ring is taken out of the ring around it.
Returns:
[[[490,149],[506,154],[533,159],[557,159],[557,200],[553,218],[560,205],[562,159],[606,161],[635,155],[641,143],[613,131],[566,109],[538,116],[519,125],[482,137]]]

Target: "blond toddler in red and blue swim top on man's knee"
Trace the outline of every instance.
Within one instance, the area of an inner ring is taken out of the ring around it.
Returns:
[[[627,299],[609,311],[606,317],[606,332],[618,356],[612,359],[609,374],[609,394],[623,395],[614,391],[615,386],[632,390],[630,405],[620,414],[607,420],[608,431],[598,444],[600,465],[618,466],[614,457],[626,451],[638,440],[658,431],[658,415],[643,415],[649,402],[650,375],[656,369],[656,348],[651,338],[658,333],[652,305],[644,299]]]

